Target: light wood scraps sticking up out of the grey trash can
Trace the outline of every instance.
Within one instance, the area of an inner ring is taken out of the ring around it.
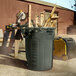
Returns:
[[[43,23],[39,24],[38,17],[36,17],[36,24],[34,27],[56,27],[56,22],[59,16],[54,15],[55,10],[56,10],[56,5],[54,5],[48,19],[43,20]],[[33,25],[31,24],[31,5],[29,5],[29,26],[28,27],[33,27]]]

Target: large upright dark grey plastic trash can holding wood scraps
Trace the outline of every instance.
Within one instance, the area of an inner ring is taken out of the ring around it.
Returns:
[[[48,70],[53,66],[55,28],[26,28],[26,58],[31,70]]]

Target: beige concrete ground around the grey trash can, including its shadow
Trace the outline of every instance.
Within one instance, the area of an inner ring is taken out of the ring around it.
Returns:
[[[53,68],[48,71],[27,69],[25,52],[20,52],[17,59],[13,50],[0,47],[0,76],[76,76],[76,57],[63,61],[53,60]]]

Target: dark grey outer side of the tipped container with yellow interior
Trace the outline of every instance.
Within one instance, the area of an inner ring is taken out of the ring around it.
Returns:
[[[68,58],[75,58],[76,54],[76,42],[72,38],[63,38],[67,45]]]

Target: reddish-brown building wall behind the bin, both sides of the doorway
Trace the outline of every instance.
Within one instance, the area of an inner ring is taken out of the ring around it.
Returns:
[[[52,10],[52,7],[39,5],[35,3],[22,2],[19,0],[0,0],[0,28],[4,29],[5,25],[16,22],[16,14],[19,10],[28,13],[28,4],[32,5],[32,19],[35,15],[40,15],[45,10]],[[70,10],[56,9],[59,15],[58,34],[66,34],[67,27],[73,24],[74,12]],[[27,20],[26,20],[27,21]],[[25,22],[23,22],[25,23]]]

